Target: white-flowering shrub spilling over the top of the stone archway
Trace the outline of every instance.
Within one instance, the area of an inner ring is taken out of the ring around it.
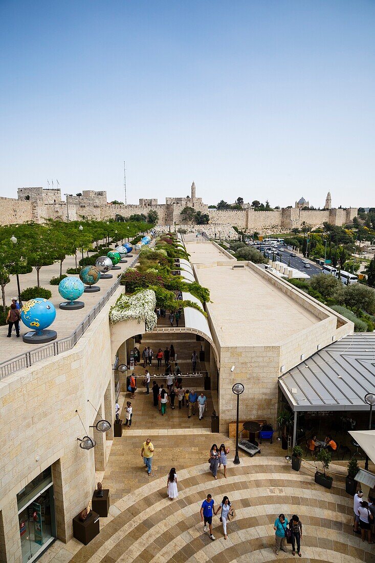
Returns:
[[[109,320],[111,324],[131,319],[136,319],[138,323],[144,321],[146,332],[150,332],[157,325],[155,307],[155,292],[151,289],[145,289],[130,297],[122,294],[116,304],[110,308]]]

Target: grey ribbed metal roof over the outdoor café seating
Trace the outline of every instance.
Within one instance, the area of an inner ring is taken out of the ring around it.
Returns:
[[[375,333],[355,333],[315,352],[279,377],[295,411],[368,410],[375,393]]]

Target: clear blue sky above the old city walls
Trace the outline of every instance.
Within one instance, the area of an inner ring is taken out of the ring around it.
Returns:
[[[375,2],[0,0],[0,195],[375,206]]]

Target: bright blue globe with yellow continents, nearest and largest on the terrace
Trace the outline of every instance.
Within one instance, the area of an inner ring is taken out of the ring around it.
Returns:
[[[35,297],[24,303],[21,309],[21,321],[26,327],[34,329],[26,332],[23,341],[27,344],[44,344],[57,337],[56,330],[47,330],[56,318],[55,306],[42,297]]]

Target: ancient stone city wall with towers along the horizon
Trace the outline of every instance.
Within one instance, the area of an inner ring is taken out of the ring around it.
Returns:
[[[300,202],[303,198],[301,198]],[[357,208],[331,208],[331,194],[328,193],[325,208],[319,210],[302,209],[309,207],[309,202],[296,202],[294,208],[274,209],[273,211],[257,211],[248,205],[243,209],[210,209],[197,198],[195,183],[191,185],[190,195],[185,198],[166,198],[165,203],[158,203],[156,198],[140,198],[138,205],[111,204],[107,202],[106,191],[83,190],[82,196],[66,195],[61,198],[59,189],[43,189],[42,187],[20,187],[18,199],[0,198],[0,224],[35,221],[42,223],[47,219],[58,221],[69,220],[109,220],[118,215],[129,217],[143,213],[147,216],[150,209],[158,212],[160,225],[183,225],[181,211],[185,207],[193,207],[196,211],[208,213],[211,224],[228,224],[250,233],[261,234],[287,232],[293,227],[312,228],[323,225],[325,221],[332,225],[342,226],[350,223],[356,215]]]

